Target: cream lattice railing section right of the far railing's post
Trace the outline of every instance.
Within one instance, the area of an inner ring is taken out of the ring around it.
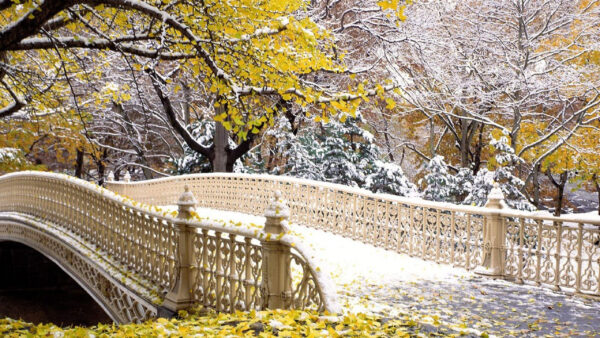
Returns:
[[[600,221],[503,215],[504,275],[600,296]]]

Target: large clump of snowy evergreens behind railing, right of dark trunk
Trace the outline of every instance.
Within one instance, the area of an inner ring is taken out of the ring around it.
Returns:
[[[302,117],[300,117],[302,118]],[[363,187],[374,192],[401,196],[418,195],[402,168],[378,159],[379,147],[374,136],[361,127],[360,113],[344,120],[331,119],[325,124],[305,120],[298,135],[291,132],[288,120],[277,121],[267,135],[276,139],[272,153],[285,158],[271,170],[312,180]]]

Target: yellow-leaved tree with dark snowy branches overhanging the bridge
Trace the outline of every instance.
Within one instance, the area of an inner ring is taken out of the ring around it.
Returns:
[[[44,110],[49,98],[56,100],[52,95],[72,96],[80,112],[80,84],[109,69],[103,53],[122,55],[136,79],[147,73],[172,128],[211,160],[214,147],[196,142],[177,118],[170,100],[181,89],[177,78],[192,79],[189,89],[213,97],[215,120],[243,141],[290,105],[310,105],[306,111],[319,119],[353,114],[357,104],[345,102],[377,91],[364,85],[342,90],[336,81],[320,84],[309,76],[339,75],[344,56],[335,38],[308,18],[307,6],[296,0],[0,1],[0,57],[12,67],[0,74],[0,117],[25,105]],[[398,1],[380,6],[403,16]],[[223,146],[228,166],[247,143]]]

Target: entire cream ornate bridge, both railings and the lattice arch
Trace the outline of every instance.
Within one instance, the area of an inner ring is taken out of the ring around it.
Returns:
[[[325,267],[317,269],[301,241],[285,232],[288,217],[494,278],[600,296],[600,218],[511,210],[497,187],[481,208],[268,175],[198,174],[106,187],[60,174],[4,175],[0,240],[52,259],[116,322],[195,304],[228,312],[339,311]],[[193,212],[196,203],[262,214],[266,224],[219,223]],[[179,212],[158,207],[173,204]]]

